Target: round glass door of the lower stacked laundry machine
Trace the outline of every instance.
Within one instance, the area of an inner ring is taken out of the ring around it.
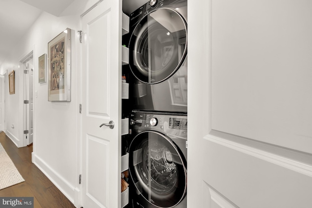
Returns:
[[[129,152],[129,170],[137,194],[159,208],[171,208],[181,202],[186,194],[186,162],[169,137],[141,132]]]

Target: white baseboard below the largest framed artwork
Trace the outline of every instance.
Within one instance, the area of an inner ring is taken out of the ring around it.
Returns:
[[[41,170],[47,178],[75,205],[75,198],[80,190],[73,187],[68,181],[51,169],[36,153],[32,152],[32,162]],[[76,203],[77,204],[77,203]]]

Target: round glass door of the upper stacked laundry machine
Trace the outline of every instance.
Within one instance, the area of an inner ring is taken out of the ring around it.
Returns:
[[[143,17],[129,42],[132,73],[143,83],[155,84],[172,76],[187,55],[187,25],[170,8],[159,8]]]

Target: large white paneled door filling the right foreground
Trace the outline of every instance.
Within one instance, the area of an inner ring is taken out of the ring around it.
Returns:
[[[188,208],[312,207],[311,11],[188,1]]]

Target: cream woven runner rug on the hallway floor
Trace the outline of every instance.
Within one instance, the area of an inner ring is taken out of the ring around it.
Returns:
[[[24,181],[19,170],[0,143],[0,190]]]

